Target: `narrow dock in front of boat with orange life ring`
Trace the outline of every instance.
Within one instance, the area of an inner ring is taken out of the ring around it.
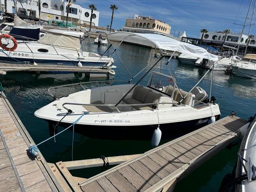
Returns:
[[[109,77],[109,70],[99,66],[68,66],[68,65],[43,65],[43,64],[4,64],[0,63],[0,71],[29,71],[29,72],[79,72],[86,73],[89,77]]]

